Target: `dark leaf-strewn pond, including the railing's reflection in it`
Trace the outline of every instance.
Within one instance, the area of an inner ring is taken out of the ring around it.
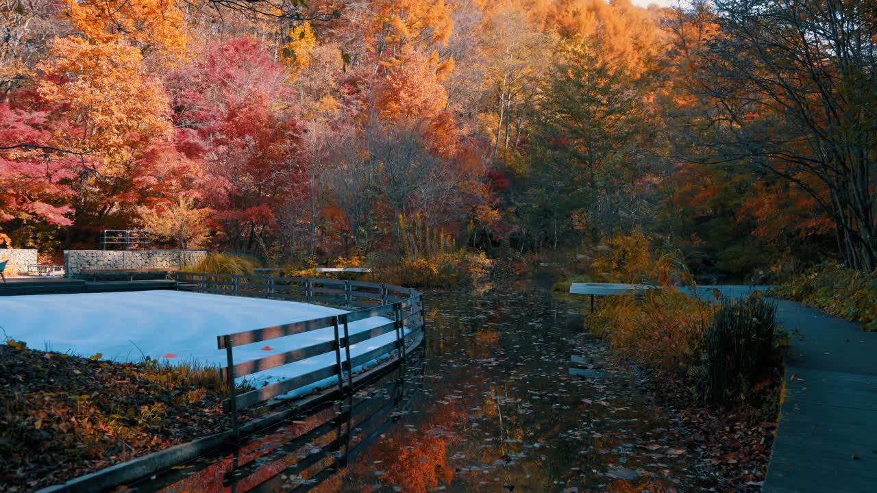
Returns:
[[[533,283],[425,297],[426,345],[343,403],[136,490],[701,491],[709,464]],[[349,422],[349,425],[347,424]],[[347,427],[351,430],[346,432]],[[232,471],[232,472],[229,472]]]

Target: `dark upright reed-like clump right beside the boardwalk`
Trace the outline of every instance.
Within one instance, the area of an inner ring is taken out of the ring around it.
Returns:
[[[701,364],[691,372],[712,404],[751,404],[751,389],[777,374],[776,304],[751,297],[723,301],[704,334]]]

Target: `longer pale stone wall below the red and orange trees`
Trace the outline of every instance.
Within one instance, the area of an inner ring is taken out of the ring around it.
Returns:
[[[65,250],[67,276],[83,268],[181,268],[207,256],[205,250]]]

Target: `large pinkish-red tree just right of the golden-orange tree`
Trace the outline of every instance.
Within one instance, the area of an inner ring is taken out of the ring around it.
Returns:
[[[284,68],[254,39],[210,46],[168,80],[178,146],[204,161],[225,240],[266,249],[280,199],[303,186],[292,152],[301,133]]]

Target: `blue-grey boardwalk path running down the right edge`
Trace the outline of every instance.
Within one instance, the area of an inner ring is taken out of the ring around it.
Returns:
[[[763,491],[877,491],[877,333],[788,301],[786,398]]]

